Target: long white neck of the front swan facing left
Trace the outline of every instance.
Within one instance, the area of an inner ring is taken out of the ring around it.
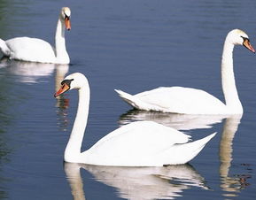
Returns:
[[[85,84],[79,90],[79,100],[74,126],[66,145],[64,159],[66,162],[77,162],[81,155],[81,142],[89,113],[89,84]]]

